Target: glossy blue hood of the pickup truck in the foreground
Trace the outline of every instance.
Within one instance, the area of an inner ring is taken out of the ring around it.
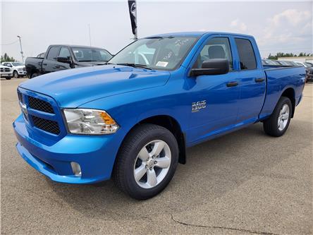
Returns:
[[[129,66],[93,66],[47,73],[20,88],[54,98],[59,107],[78,107],[87,102],[125,92],[165,85],[168,71],[150,71]]]

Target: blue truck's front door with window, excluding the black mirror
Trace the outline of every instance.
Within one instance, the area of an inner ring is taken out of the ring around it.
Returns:
[[[193,68],[201,68],[207,59],[228,59],[230,72],[190,79],[192,112],[188,142],[200,142],[231,129],[238,114],[240,90],[233,72],[233,55],[228,37],[210,37],[202,45]]]

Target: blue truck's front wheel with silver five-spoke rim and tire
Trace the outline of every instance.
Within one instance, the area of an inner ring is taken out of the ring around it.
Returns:
[[[131,131],[121,146],[113,181],[132,198],[152,198],[171,181],[177,164],[178,144],[171,131],[142,124]]]

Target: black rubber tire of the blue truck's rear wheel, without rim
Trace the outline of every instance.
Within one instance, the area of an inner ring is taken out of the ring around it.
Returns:
[[[283,130],[280,130],[278,128],[278,117],[280,115],[281,109],[283,108],[283,105],[285,104],[287,104],[289,107],[289,116],[288,116],[288,121],[286,123],[286,126],[283,128]],[[291,104],[290,99],[288,97],[282,96],[278,100],[278,103],[276,104],[273,114],[271,114],[269,119],[266,119],[263,122],[263,128],[264,128],[265,133],[274,137],[279,137],[283,135],[288,129],[292,113],[293,113],[293,106]]]

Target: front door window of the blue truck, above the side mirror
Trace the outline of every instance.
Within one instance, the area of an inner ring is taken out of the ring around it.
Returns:
[[[201,68],[203,61],[208,59],[228,59],[229,70],[233,70],[231,45],[227,37],[214,37],[204,45],[193,68]]]

